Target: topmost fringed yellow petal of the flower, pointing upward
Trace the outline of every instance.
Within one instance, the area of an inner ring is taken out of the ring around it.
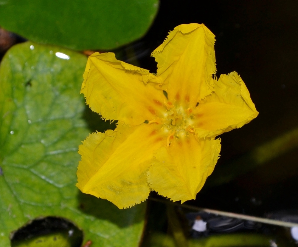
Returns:
[[[212,74],[216,72],[214,37],[204,24],[182,24],[151,54],[172,103],[195,106],[212,92]]]

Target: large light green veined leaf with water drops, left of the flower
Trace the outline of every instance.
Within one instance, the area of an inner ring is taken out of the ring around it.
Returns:
[[[49,215],[73,221],[92,247],[139,243],[145,203],[120,210],[75,187],[78,145],[91,132],[80,95],[86,61],[79,53],[27,42],[1,62],[1,247],[10,246],[11,231]],[[100,131],[106,126],[99,121]]]

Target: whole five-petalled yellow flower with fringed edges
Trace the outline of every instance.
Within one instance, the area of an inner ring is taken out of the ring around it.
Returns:
[[[157,75],[114,53],[89,57],[81,92],[93,111],[118,124],[80,145],[82,192],[120,209],[150,190],[181,203],[195,199],[219,158],[215,137],[258,115],[236,72],[214,76],[214,37],[204,24],[179,25],[151,54]]]

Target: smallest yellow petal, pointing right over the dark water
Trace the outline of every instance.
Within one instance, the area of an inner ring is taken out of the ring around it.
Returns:
[[[259,114],[236,72],[221,75],[214,85],[214,92],[195,109],[195,132],[199,138],[240,128]]]

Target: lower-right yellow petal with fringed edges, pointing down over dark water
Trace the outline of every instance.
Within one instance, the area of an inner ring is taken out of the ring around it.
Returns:
[[[220,139],[198,142],[194,135],[162,147],[147,172],[150,187],[173,201],[195,199],[212,173],[220,149]]]

